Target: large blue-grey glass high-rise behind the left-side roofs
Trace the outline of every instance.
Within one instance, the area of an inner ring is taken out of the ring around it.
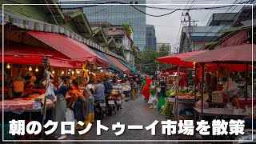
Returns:
[[[146,0],[89,0],[89,1],[69,1],[60,3],[73,4],[98,4],[110,2],[122,2],[128,4],[145,4]],[[66,5],[62,8],[83,7],[83,12],[89,22],[110,22],[112,25],[130,24],[134,31],[134,46],[143,50],[146,46],[146,7],[129,5]],[[142,12],[140,12],[141,10]]]

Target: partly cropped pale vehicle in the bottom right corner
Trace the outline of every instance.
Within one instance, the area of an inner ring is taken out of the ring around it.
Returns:
[[[234,144],[241,144],[241,143],[255,143],[256,141],[256,130],[246,129],[244,130],[245,134],[238,135],[233,142]]]

